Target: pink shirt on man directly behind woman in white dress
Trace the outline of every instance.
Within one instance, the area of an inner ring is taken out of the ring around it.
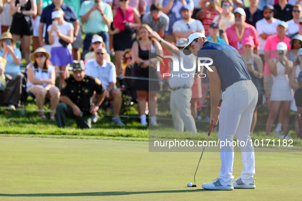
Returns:
[[[264,54],[268,53],[269,54],[269,58],[270,59],[275,59],[278,57],[278,53],[275,50],[277,48],[277,44],[280,42],[284,42],[287,45],[287,49],[291,49],[291,45],[290,45],[290,39],[288,37],[284,37],[283,41],[280,41],[277,35],[272,35],[267,37],[266,42],[265,42],[265,46],[264,46]],[[268,69],[267,63],[264,64],[264,68],[263,68],[263,74],[266,75],[270,75],[270,71]]]

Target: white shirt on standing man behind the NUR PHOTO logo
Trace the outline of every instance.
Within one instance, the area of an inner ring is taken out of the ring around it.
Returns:
[[[180,53],[180,57],[183,58],[183,67],[185,69],[191,69],[193,67],[193,62],[196,62],[196,56],[194,56],[193,54],[186,56],[182,53],[182,51],[179,51],[179,53]],[[196,69],[193,69],[189,72],[184,71],[180,66],[181,65],[180,58],[174,54],[173,54],[173,56],[176,57],[179,61],[179,71],[173,71],[173,68],[172,68],[171,76],[170,76],[170,80],[169,80],[169,86],[172,89],[176,88],[176,87],[184,87],[184,86],[192,87],[193,83],[194,83],[194,75],[192,75],[190,73],[195,73]],[[196,67],[197,67],[197,65],[196,65]],[[181,77],[181,74],[183,74],[183,78]],[[186,74],[189,74],[189,77]],[[185,78],[185,77],[188,77],[188,78]]]

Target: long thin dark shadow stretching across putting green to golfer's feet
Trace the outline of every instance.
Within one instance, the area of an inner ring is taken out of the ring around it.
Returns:
[[[188,190],[159,190],[159,191],[111,191],[111,192],[86,192],[86,193],[33,193],[33,194],[0,194],[0,197],[73,197],[73,196],[117,196],[152,193],[186,193],[186,192],[212,191],[205,189]]]

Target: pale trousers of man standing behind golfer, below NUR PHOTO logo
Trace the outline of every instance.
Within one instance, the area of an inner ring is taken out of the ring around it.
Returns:
[[[177,89],[171,92],[170,109],[174,129],[183,132],[184,128],[187,132],[197,133],[194,118],[191,114],[191,88]]]

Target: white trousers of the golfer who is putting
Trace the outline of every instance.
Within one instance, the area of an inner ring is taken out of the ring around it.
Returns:
[[[231,142],[235,135],[240,145],[244,144],[244,146],[240,146],[243,164],[241,178],[249,179],[255,174],[254,149],[250,142],[250,127],[253,111],[258,101],[257,88],[252,81],[236,82],[226,88],[222,93],[222,99],[219,115],[219,140]],[[225,146],[220,148],[220,158],[219,177],[224,182],[234,179],[234,146],[225,143]]]

